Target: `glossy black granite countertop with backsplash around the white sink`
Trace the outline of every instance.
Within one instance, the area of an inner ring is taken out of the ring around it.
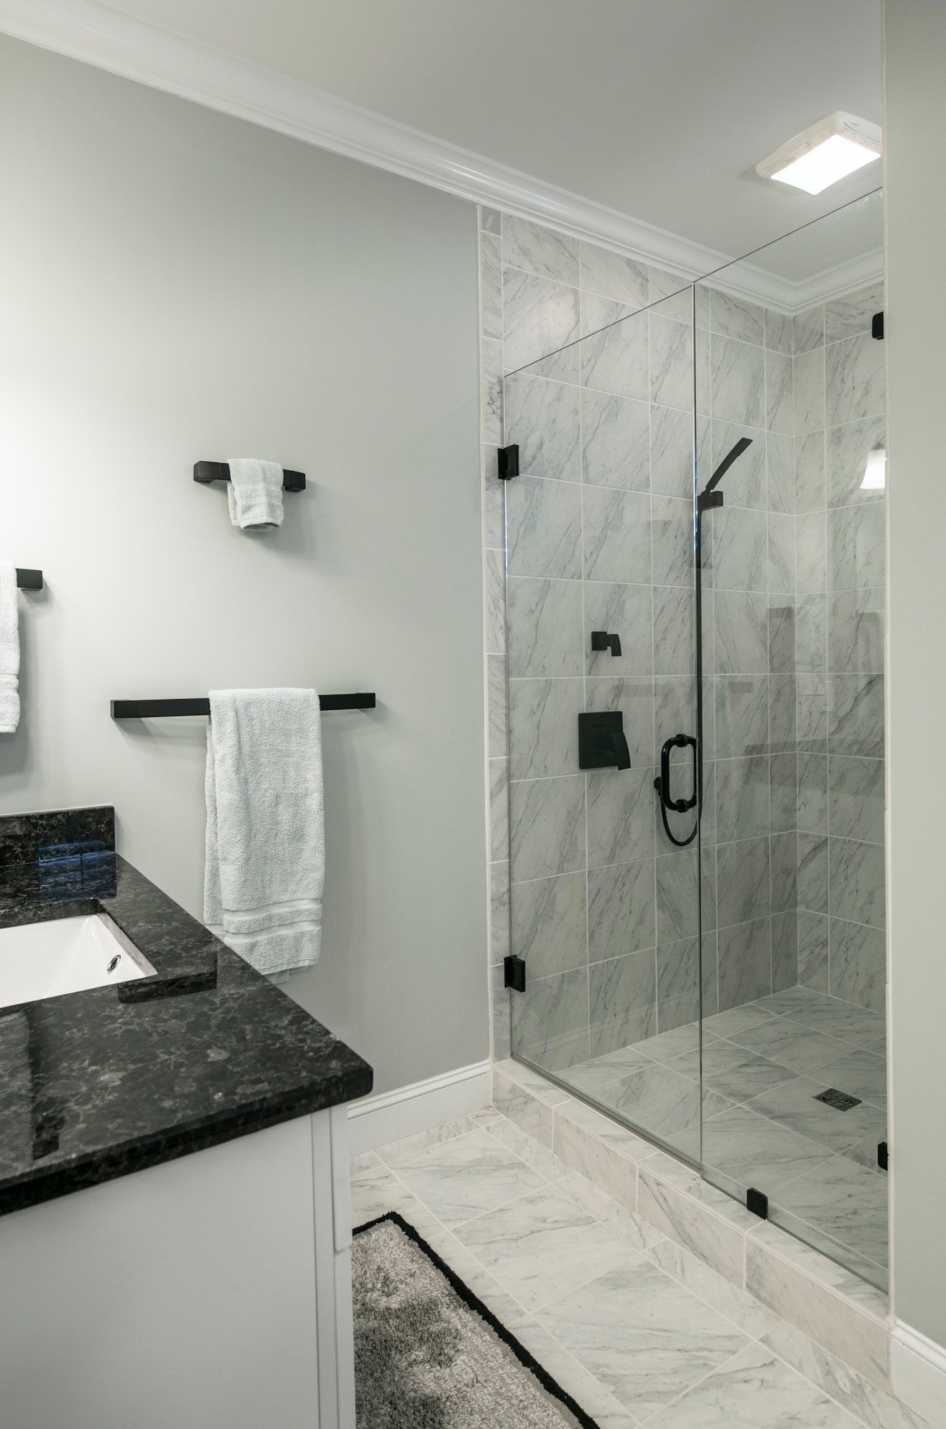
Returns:
[[[364,1096],[372,1069],[114,852],[0,819],[0,927],[104,913],[156,969],[0,1009],[0,1215]]]

